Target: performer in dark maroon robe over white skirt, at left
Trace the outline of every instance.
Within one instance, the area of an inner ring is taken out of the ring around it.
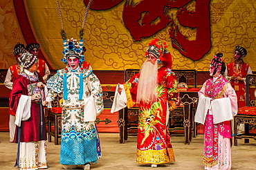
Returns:
[[[46,126],[42,100],[44,84],[37,73],[36,55],[24,53],[19,57],[21,73],[14,79],[10,106],[16,113],[15,143],[18,143],[19,169],[46,169]]]

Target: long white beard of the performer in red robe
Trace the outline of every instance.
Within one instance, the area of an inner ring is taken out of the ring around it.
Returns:
[[[144,62],[140,68],[140,77],[138,80],[137,102],[156,102],[157,93],[156,87],[158,77],[158,64]]]

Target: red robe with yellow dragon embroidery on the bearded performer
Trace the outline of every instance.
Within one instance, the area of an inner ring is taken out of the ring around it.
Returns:
[[[134,75],[125,84],[128,107],[135,104],[139,76],[140,73]],[[171,109],[178,102],[177,84],[176,76],[170,68],[158,68],[157,102],[140,102],[137,139],[137,162],[140,164],[175,161],[166,119],[169,114],[167,101],[170,101]]]

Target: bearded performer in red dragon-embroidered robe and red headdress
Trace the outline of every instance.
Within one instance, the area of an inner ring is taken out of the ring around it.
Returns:
[[[174,151],[167,127],[169,111],[179,103],[177,79],[170,69],[172,56],[166,43],[149,43],[140,73],[125,84],[118,84],[111,112],[139,105],[137,162],[157,164],[174,162]]]

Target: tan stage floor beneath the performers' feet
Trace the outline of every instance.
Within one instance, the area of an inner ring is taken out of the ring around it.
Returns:
[[[0,132],[0,169],[12,170],[15,164],[17,144],[8,142],[9,133]],[[199,170],[203,169],[203,135],[197,135],[192,142],[185,145],[183,135],[172,135],[172,145],[176,162],[158,165],[158,170]],[[102,147],[102,159],[98,164],[91,165],[91,169],[104,170],[131,170],[151,169],[149,164],[136,163],[136,135],[129,136],[125,144],[119,144],[118,133],[100,133]],[[244,140],[238,140],[238,146],[232,147],[232,170],[255,169],[256,141],[250,140],[244,144]],[[60,145],[54,142],[47,143],[48,169],[62,169],[59,164]],[[82,169],[82,167],[78,167]]]

